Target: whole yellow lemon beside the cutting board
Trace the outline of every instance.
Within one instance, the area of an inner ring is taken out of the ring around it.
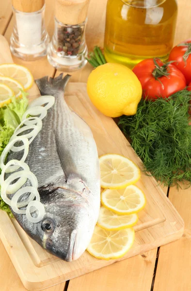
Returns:
[[[137,112],[142,86],[137,76],[125,65],[107,63],[91,72],[87,92],[100,112],[118,117]]]

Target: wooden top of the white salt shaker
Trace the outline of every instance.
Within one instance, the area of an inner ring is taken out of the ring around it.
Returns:
[[[36,12],[43,8],[45,0],[12,0],[13,7],[21,12]]]

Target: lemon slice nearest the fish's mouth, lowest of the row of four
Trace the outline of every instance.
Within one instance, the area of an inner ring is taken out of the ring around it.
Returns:
[[[98,259],[118,259],[127,253],[134,239],[133,228],[110,231],[96,226],[87,251]]]

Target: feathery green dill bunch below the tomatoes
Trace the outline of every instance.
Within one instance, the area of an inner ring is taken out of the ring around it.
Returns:
[[[166,186],[191,185],[191,92],[168,99],[141,100],[137,113],[121,116],[119,126],[131,139],[144,171]]]

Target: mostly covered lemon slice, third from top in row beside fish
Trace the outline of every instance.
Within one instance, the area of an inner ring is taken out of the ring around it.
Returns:
[[[118,215],[111,210],[101,207],[99,211],[99,218],[97,225],[106,230],[120,230],[135,226],[138,221],[138,215]]]

